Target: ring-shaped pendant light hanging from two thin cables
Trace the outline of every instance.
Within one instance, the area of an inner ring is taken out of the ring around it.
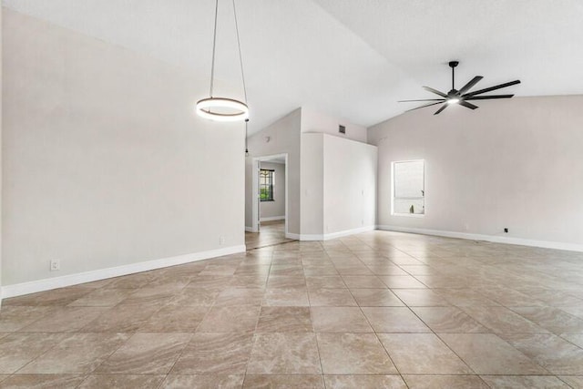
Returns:
[[[237,46],[239,47],[240,76],[243,83],[243,95],[245,101],[239,101],[228,97],[214,97],[214,77],[215,77],[215,51],[217,47],[217,19],[219,17],[219,0],[215,5],[215,27],[212,38],[212,63],[210,67],[210,97],[203,98],[197,102],[196,110],[202,118],[210,118],[217,121],[237,121],[249,118],[249,107],[247,107],[247,88],[245,87],[245,75],[243,74],[243,59],[240,55],[239,26],[237,24],[237,10],[235,0],[232,0],[233,15],[235,16],[235,31],[237,32]]]

